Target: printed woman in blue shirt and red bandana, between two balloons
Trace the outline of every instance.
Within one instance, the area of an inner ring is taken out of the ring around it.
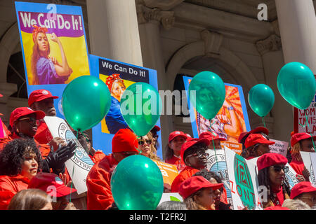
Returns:
[[[111,93],[112,104],[110,111],[105,117],[105,123],[107,124],[107,130],[110,134],[116,134],[120,129],[129,128],[126,124],[123,116],[121,115],[121,95],[126,89],[124,80],[119,77],[119,74],[112,74],[108,76],[105,84],[109,87]]]

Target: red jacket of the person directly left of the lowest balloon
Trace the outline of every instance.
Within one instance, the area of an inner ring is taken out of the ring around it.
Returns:
[[[117,160],[114,160],[113,155],[110,154],[105,155],[103,160],[91,168],[86,178],[88,210],[105,210],[111,207],[114,202],[111,192],[111,175],[116,166]]]

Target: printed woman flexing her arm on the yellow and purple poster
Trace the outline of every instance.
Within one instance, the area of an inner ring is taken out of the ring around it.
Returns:
[[[62,48],[62,43],[56,34],[51,34],[51,41],[58,43],[62,57],[60,64],[55,57],[50,57],[51,48],[46,36],[46,27],[33,26],[33,53],[32,53],[32,73],[33,85],[64,84],[72,73],[67,58]]]

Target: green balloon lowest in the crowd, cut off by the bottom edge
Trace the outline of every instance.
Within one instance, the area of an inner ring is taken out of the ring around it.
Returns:
[[[164,192],[162,172],[150,158],[131,155],[115,167],[111,191],[120,210],[154,210]]]

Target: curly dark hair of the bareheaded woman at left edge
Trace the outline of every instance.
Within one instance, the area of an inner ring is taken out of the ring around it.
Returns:
[[[37,163],[41,167],[41,152],[34,139],[20,138],[9,141],[0,152],[0,175],[16,176],[22,172],[25,155],[37,155]]]

